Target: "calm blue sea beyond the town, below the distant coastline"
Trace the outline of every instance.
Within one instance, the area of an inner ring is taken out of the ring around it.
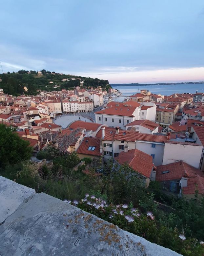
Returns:
[[[203,92],[204,93],[204,84],[171,84],[171,85],[147,85],[147,86],[114,86],[113,89],[118,89],[122,95],[119,97],[112,97],[114,101],[122,102],[127,99],[127,96],[131,96],[140,92],[140,90],[145,89],[149,90],[154,94],[161,95],[171,95],[173,93],[196,93]]]

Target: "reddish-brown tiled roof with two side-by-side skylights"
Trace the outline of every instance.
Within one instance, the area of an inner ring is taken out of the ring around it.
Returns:
[[[95,147],[95,149],[88,150],[90,146]],[[100,138],[84,137],[84,140],[82,141],[76,152],[78,154],[84,155],[102,156],[102,153],[100,153]]]

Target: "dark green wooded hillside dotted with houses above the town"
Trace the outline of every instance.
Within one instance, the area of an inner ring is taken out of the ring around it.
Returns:
[[[19,70],[16,73],[8,72],[7,74],[0,74],[0,78],[2,79],[0,87],[4,89],[5,93],[15,96],[22,95],[23,93],[35,95],[37,90],[48,92],[54,90],[60,91],[61,89],[69,90],[75,86],[82,86],[82,84],[80,84],[82,81],[84,82],[83,87],[87,89],[97,86],[101,86],[103,90],[108,90],[108,88],[110,88],[108,80],[59,74],[44,69],[41,70],[41,72],[42,74],[38,74],[38,71]],[[62,79],[67,79],[67,81],[62,81]],[[25,91],[24,87],[27,87],[28,91]]]

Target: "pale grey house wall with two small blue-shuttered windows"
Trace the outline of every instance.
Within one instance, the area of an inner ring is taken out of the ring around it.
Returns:
[[[152,143],[156,144],[155,148],[152,148]],[[141,150],[148,155],[154,154],[153,163],[155,165],[161,165],[164,154],[164,143],[158,142],[147,142],[147,141],[137,141],[136,149]]]

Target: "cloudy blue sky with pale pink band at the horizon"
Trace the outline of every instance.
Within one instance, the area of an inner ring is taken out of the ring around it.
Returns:
[[[204,81],[203,0],[1,0],[0,22],[3,72]]]

